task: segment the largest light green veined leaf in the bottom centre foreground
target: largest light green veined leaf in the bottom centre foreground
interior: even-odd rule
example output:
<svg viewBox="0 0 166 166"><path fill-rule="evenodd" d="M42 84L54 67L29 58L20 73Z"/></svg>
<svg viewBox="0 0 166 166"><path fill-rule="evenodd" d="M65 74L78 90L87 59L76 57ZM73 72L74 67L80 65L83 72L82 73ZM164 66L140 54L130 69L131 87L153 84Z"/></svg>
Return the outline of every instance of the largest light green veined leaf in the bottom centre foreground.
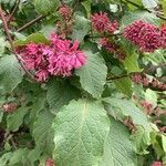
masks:
<svg viewBox="0 0 166 166"><path fill-rule="evenodd" d="M101 103L72 101L59 112L53 127L53 157L59 166L98 165L110 127L108 117Z"/></svg>

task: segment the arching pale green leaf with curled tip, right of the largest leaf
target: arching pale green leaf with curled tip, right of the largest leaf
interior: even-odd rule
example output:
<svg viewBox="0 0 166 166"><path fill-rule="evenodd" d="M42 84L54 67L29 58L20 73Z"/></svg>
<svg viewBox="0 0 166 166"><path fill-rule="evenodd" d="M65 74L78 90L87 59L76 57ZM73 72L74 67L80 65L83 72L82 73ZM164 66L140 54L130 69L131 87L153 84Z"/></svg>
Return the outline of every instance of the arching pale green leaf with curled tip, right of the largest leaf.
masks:
<svg viewBox="0 0 166 166"><path fill-rule="evenodd" d="M145 154L147 146L151 144L151 132L153 131L146 115L132 102L124 98L104 98L107 104L105 108L108 114L124 122L125 117L131 117L136 132L133 135L133 142L136 145L137 153ZM139 139L136 138L141 138Z"/></svg>

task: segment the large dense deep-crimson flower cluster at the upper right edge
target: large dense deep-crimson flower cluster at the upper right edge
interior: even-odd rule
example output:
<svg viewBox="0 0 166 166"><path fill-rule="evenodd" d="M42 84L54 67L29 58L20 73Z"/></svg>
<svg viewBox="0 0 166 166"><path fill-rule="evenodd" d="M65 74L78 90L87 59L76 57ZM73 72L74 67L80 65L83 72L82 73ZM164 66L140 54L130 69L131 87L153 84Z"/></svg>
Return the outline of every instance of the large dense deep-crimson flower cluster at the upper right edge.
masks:
<svg viewBox="0 0 166 166"><path fill-rule="evenodd" d="M139 48L142 52L154 52L166 48L166 29L135 21L124 29L124 37Z"/></svg>

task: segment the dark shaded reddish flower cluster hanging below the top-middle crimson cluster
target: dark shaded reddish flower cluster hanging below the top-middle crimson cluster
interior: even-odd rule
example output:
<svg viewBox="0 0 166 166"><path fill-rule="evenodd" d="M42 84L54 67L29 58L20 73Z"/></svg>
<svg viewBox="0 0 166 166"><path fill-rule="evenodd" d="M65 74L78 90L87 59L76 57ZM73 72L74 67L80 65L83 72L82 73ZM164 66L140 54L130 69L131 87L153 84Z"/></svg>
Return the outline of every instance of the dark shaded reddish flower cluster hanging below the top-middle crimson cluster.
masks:
<svg viewBox="0 0 166 166"><path fill-rule="evenodd" d="M115 58L118 59L120 61L125 60L126 54L124 53L122 48L116 43L112 42L107 38L102 38L100 40L100 43L107 50L108 53L113 53Z"/></svg>

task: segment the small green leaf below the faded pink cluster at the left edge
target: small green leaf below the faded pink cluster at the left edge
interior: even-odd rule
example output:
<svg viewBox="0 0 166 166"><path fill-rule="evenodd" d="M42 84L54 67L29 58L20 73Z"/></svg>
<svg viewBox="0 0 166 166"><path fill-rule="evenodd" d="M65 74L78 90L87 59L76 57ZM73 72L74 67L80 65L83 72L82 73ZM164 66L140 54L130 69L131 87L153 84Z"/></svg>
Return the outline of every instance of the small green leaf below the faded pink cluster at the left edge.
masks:
<svg viewBox="0 0 166 166"><path fill-rule="evenodd" d="M25 114L28 113L28 107L20 107L11 115L8 115L7 117L7 128L12 132L17 132L19 127L23 123L23 118Z"/></svg>

